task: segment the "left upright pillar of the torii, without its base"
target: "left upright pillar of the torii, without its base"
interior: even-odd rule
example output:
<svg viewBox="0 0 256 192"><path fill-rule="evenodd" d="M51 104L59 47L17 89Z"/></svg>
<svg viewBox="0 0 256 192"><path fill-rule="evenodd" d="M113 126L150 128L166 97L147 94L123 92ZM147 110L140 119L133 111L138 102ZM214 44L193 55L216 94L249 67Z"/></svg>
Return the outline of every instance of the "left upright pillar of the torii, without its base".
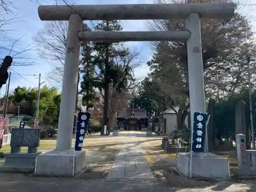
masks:
<svg viewBox="0 0 256 192"><path fill-rule="evenodd" d="M82 19L77 14L71 15L69 18L56 150L71 149L80 53L80 40L77 34L81 30Z"/></svg>

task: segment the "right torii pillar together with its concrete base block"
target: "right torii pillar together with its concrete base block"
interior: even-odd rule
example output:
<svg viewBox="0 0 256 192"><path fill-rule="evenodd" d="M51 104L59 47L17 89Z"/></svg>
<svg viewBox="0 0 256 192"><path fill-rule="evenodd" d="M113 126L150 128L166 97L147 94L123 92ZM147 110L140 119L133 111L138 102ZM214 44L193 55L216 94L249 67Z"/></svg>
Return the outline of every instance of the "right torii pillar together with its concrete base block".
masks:
<svg viewBox="0 0 256 192"><path fill-rule="evenodd" d="M201 45L200 17L190 13L186 18L186 29L190 32L187 40L188 81L191 132L194 130L194 112L205 113L204 72ZM207 133L205 138L207 138ZM192 145L192 143L190 143ZM229 160L216 154L208 153L205 141L205 153L180 153L177 168L188 177L228 179Z"/></svg>

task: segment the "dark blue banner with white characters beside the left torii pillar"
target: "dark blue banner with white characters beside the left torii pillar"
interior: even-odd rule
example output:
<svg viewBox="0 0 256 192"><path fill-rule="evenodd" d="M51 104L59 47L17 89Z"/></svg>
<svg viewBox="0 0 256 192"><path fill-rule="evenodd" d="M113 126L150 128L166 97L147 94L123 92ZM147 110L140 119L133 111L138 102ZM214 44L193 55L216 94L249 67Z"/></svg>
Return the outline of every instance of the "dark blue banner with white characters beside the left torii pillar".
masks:
<svg viewBox="0 0 256 192"><path fill-rule="evenodd" d="M82 150L82 143L84 139L84 135L87 132L87 127L90 119L90 113L79 112L76 122L76 143L75 143L75 151Z"/></svg>

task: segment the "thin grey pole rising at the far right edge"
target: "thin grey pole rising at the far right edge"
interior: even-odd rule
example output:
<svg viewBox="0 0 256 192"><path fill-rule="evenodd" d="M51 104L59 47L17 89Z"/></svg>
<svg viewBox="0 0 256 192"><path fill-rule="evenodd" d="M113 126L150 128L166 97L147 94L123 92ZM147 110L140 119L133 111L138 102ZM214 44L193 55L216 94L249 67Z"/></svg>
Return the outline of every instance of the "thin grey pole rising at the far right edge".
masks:
<svg viewBox="0 0 256 192"><path fill-rule="evenodd" d="M252 115L252 102L251 102L251 74L250 74L250 56L247 55L247 70L248 70L248 91L249 91L249 104L250 104L250 120L251 120L251 142L252 150L255 150L255 136L253 127L253 115Z"/></svg>

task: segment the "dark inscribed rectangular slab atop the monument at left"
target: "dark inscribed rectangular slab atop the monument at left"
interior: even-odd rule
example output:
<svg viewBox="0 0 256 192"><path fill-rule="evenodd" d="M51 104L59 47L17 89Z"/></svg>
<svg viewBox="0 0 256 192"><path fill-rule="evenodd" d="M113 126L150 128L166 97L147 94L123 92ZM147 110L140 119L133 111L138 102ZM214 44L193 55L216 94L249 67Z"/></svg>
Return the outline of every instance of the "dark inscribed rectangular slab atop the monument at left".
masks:
<svg viewBox="0 0 256 192"><path fill-rule="evenodd" d="M10 146L39 146L40 129L12 129Z"/></svg>

